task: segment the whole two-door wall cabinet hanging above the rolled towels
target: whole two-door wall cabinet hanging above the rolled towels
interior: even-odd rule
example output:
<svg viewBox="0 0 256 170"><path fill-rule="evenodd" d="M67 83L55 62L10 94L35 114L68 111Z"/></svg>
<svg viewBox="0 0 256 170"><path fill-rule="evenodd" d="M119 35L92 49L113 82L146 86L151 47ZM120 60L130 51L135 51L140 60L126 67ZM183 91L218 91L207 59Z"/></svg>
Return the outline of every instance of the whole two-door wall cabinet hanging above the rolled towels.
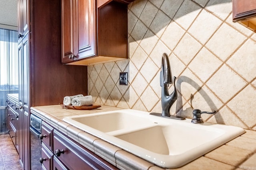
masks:
<svg viewBox="0 0 256 170"><path fill-rule="evenodd" d="M128 2L61 2L62 63L91 65L128 58Z"/></svg>

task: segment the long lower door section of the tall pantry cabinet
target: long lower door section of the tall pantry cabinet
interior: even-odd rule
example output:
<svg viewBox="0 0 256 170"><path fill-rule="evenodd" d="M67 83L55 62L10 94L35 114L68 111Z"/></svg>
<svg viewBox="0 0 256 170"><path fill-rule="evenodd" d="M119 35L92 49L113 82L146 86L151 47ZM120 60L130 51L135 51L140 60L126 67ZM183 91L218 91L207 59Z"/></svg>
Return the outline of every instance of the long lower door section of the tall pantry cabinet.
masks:
<svg viewBox="0 0 256 170"><path fill-rule="evenodd" d="M18 45L19 58L19 155L26 170L29 165L29 34Z"/></svg>

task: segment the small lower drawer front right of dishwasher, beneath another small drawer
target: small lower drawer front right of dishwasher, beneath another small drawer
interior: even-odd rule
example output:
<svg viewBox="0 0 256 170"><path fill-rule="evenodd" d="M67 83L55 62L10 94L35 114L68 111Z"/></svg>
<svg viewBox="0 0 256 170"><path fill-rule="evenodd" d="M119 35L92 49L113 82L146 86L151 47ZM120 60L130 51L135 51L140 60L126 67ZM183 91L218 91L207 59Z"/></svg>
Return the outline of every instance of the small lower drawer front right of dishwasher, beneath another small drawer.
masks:
<svg viewBox="0 0 256 170"><path fill-rule="evenodd" d="M52 158L53 158L53 153L51 150L48 149L44 143L42 143L42 157L41 160L43 160L42 165L46 170L51 170L52 169Z"/></svg>

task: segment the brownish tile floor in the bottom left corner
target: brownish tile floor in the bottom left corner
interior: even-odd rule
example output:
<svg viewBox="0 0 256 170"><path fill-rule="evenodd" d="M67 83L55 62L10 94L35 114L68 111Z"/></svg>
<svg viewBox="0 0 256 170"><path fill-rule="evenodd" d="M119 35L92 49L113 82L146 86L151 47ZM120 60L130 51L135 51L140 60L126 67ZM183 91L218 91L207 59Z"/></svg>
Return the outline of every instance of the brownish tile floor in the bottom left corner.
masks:
<svg viewBox="0 0 256 170"><path fill-rule="evenodd" d="M22 170L9 134L0 135L0 170Z"/></svg>

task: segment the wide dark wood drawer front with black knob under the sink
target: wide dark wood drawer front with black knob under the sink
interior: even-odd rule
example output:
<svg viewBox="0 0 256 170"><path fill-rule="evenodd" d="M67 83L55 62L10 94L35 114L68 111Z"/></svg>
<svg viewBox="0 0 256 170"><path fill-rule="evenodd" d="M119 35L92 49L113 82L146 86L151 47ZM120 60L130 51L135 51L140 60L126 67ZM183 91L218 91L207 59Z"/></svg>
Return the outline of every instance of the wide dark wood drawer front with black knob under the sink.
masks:
<svg viewBox="0 0 256 170"><path fill-rule="evenodd" d="M70 170L115 169L114 166L90 150L54 129L54 154Z"/></svg>

